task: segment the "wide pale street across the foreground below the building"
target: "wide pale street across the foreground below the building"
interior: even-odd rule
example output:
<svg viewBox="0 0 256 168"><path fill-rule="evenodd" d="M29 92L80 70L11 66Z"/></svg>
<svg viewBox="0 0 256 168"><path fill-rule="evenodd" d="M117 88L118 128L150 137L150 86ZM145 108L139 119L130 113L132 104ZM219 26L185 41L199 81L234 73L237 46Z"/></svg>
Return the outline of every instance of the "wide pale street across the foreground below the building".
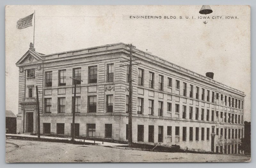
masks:
<svg viewBox="0 0 256 168"><path fill-rule="evenodd" d="M246 162L248 155L166 153L6 139L6 162Z"/></svg>

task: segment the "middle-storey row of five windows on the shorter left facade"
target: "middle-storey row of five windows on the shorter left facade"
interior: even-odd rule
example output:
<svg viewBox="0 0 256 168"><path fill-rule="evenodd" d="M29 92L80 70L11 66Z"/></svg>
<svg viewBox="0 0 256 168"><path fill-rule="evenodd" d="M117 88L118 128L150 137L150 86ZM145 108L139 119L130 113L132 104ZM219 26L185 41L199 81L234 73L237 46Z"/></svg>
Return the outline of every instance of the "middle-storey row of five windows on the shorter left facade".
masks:
<svg viewBox="0 0 256 168"><path fill-rule="evenodd" d="M97 96L88 96L88 113L96 113L97 109ZM107 95L106 109L107 113L113 112L113 95ZM72 113L73 113L74 97L72 97ZM44 112L52 113L52 98L44 98ZM66 98L58 98L58 113L66 112ZM75 113L81 112L81 97L76 96Z"/></svg>

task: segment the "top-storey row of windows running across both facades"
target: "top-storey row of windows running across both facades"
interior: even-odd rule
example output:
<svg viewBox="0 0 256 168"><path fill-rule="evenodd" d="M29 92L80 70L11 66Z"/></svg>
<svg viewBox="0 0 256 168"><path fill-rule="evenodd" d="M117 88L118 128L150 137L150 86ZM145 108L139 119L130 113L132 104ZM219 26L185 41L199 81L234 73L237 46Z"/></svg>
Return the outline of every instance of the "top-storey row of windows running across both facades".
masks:
<svg viewBox="0 0 256 168"><path fill-rule="evenodd" d="M127 68L128 69L128 68ZM34 76L34 69L27 70L28 77ZM81 84L81 68L73 68L73 78L77 79L74 80L72 84ZM113 82L114 80L114 64L107 64L107 82ZM59 86L66 85L66 69L59 70L59 77L58 77ZM138 85L144 85L144 70L138 69ZM127 71L127 82L128 82L128 71ZM90 66L88 67L88 83L97 83L97 66ZM163 90L164 84L164 76L159 75L158 81L158 90ZM52 86L52 71L45 72L45 87ZM172 87L172 78L168 77L168 86ZM149 88L154 88L154 73L149 72ZM193 91L194 86L192 84L189 85L189 97L193 98ZM180 81L176 80L176 89L180 89ZM201 100L205 98L205 89L202 89ZM187 83L183 82L183 96L187 96ZM199 99L199 87L196 86L196 99ZM212 91L212 100L211 102L214 103L215 99L215 92ZM216 93L216 99L219 100L219 93ZM223 101L223 94L220 94L220 100ZM210 102L210 90L207 90L206 101ZM225 106L227 106L227 96L225 95L224 98ZM228 106L238 109L243 109L243 100L238 100L232 98L231 104L231 97L228 97Z"/></svg>

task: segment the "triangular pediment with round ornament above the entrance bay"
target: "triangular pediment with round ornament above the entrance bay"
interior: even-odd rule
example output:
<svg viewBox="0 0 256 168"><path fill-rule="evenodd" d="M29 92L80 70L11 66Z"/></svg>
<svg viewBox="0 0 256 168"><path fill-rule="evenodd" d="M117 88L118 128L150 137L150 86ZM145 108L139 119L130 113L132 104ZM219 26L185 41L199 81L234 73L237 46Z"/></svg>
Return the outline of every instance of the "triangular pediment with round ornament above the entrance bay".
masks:
<svg viewBox="0 0 256 168"><path fill-rule="evenodd" d="M21 59L16 63L16 65L20 64L34 64L36 62L42 62L42 58L35 52L28 50Z"/></svg>

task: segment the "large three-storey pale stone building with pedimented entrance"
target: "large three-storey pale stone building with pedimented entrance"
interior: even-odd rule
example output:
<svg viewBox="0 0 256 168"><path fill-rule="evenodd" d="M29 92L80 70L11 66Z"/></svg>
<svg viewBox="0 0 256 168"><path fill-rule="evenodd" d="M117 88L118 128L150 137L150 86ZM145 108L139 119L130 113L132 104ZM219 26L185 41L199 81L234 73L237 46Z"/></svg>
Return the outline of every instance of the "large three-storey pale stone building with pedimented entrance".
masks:
<svg viewBox="0 0 256 168"><path fill-rule="evenodd" d="M129 46L124 43L44 55L31 45L19 67L17 132L36 132L36 86L44 134L71 135L74 81L76 136L127 141ZM133 49L133 142L238 153L244 92Z"/></svg>

